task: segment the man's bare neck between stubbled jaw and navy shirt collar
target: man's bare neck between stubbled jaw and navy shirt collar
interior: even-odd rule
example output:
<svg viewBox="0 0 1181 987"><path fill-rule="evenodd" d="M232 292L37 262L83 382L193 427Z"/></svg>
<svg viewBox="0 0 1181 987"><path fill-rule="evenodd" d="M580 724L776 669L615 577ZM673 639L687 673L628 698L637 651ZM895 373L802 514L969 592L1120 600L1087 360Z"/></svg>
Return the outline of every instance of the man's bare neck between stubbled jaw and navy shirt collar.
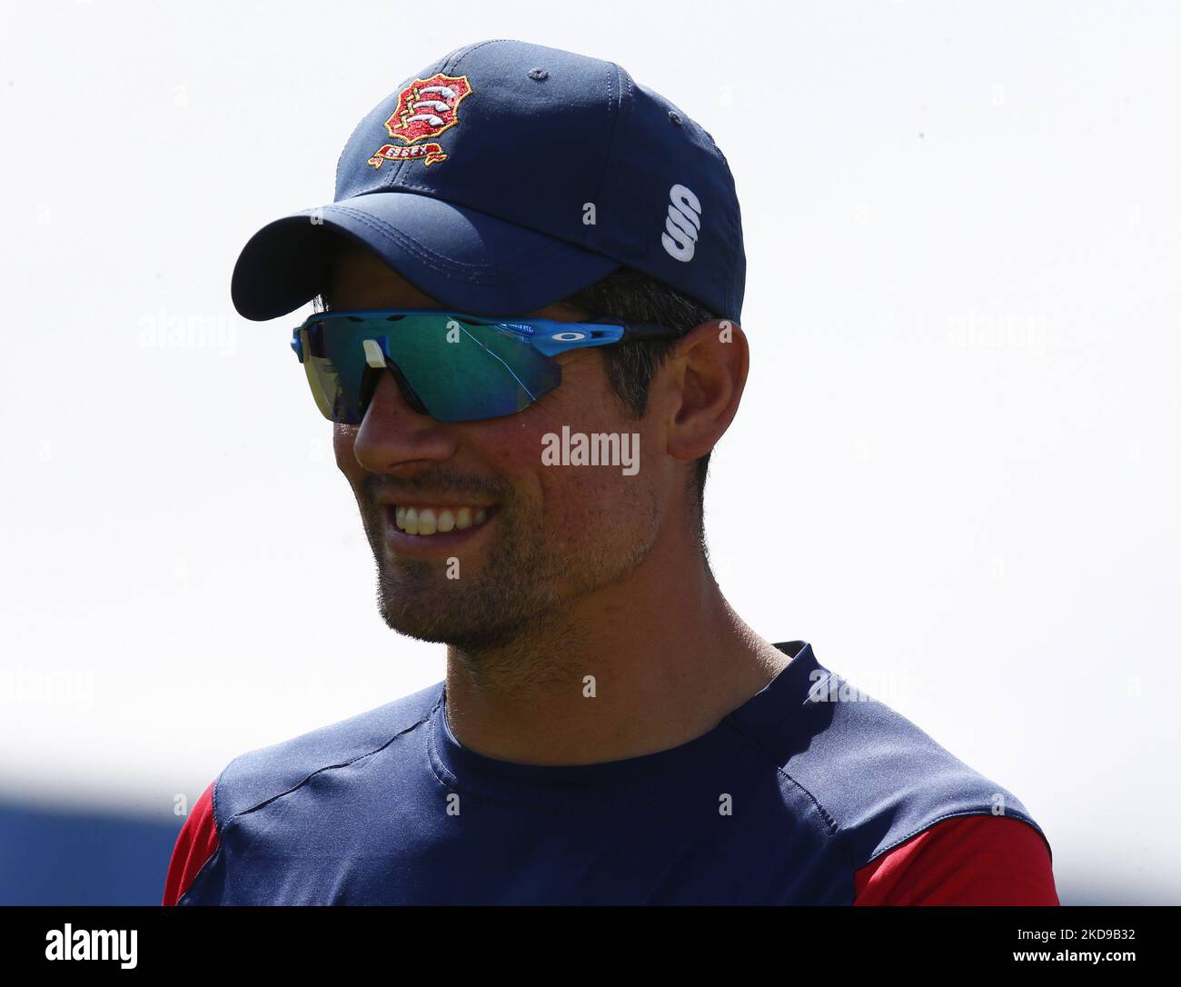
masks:
<svg viewBox="0 0 1181 987"><path fill-rule="evenodd" d="M629 577L539 619L511 644L448 649L456 739L520 764L613 761L686 744L789 658L730 608L699 556Z"/></svg>

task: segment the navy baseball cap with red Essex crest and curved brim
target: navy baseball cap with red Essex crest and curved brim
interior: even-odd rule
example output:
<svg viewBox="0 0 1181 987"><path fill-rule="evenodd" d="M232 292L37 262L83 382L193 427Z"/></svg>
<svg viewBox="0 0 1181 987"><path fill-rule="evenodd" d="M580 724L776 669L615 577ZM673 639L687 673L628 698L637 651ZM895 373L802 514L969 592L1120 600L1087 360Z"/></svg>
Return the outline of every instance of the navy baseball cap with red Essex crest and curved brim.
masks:
<svg viewBox="0 0 1181 987"><path fill-rule="evenodd" d="M470 314L542 309L620 266L742 314L742 215L713 138L621 66L560 48L481 41L405 79L353 130L332 203L247 242L239 313L326 288L326 229Z"/></svg>

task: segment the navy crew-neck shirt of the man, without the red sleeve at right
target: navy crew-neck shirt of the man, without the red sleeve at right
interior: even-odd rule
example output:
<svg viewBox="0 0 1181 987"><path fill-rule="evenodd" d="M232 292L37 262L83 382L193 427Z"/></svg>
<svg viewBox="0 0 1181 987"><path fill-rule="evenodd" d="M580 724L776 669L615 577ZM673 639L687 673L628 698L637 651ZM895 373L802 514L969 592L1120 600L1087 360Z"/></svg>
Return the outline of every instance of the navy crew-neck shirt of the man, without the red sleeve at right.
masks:
<svg viewBox="0 0 1181 987"><path fill-rule="evenodd" d="M242 754L187 823L165 902L850 904L887 855L965 817L1005 817L1049 875L1011 792L807 642L776 647L792 660L758 694L638 758L484 757L452 735L443 682Z"/></svg>

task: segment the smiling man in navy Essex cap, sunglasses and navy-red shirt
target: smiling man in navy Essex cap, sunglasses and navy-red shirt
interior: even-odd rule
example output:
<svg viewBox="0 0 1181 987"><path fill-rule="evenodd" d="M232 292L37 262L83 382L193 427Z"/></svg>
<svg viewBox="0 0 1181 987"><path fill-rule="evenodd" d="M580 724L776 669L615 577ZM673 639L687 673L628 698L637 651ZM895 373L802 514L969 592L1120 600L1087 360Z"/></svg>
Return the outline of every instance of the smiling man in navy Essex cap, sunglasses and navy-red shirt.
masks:
<svg viewBox="0 0 1181 987"><path fill-rule="evenodd" d="M235 305L318 300L292 345L383 617L446 677L235 758L165 903L1057 904L1011 793L715 582L744 280L709 134L520 41L407 79L333 204L252 238Z"/></svg>

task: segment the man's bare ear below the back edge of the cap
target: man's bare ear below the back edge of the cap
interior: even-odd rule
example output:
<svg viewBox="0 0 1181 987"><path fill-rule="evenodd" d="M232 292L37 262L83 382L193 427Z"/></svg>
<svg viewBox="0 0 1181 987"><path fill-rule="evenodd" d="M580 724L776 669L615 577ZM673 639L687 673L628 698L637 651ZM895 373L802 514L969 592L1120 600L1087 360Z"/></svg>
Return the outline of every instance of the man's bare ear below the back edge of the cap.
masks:
<svg viewBox="0 0 1181 987"><path fill-rule="evenodd" d="M750 349L730 319L702 323L677 344L666 392L668 453L696 460L710 452L738 411Z"/></svg>

